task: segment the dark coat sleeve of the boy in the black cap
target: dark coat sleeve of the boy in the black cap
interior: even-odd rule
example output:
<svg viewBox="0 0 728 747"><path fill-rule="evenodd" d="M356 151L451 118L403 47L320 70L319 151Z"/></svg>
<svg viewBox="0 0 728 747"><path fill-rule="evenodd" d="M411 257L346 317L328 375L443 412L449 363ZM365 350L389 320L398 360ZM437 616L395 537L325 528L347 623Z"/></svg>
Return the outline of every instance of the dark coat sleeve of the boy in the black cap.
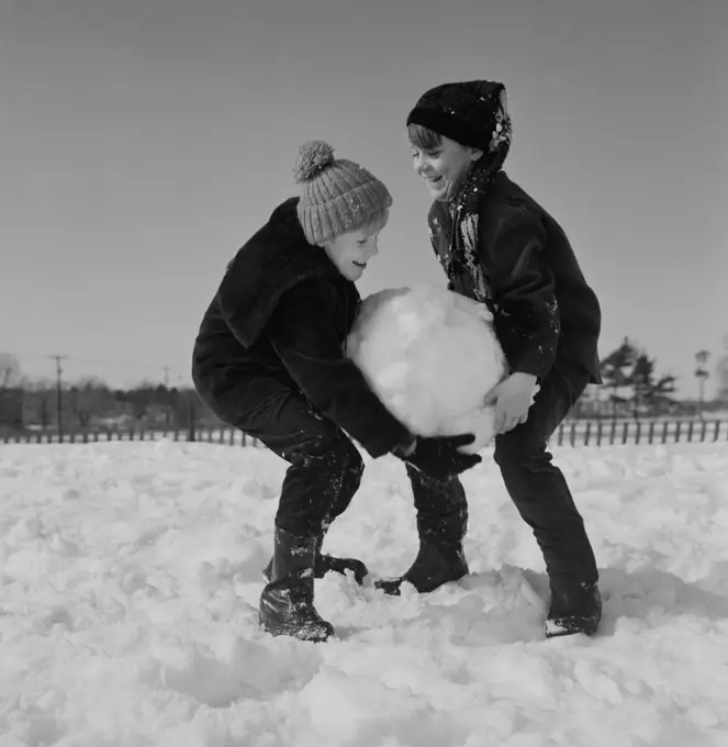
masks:
<svg viewBox="0 0 728 747"><path fill-rule="evenodd" d="M516 352L512 371L544 378L556 359L561 332L553 275L544 261L547 233L540 214L527 207L499 205L499 219L481 234L484 267L499 310L504 348ZM489 225L490 223L490 225Z"/></svg>

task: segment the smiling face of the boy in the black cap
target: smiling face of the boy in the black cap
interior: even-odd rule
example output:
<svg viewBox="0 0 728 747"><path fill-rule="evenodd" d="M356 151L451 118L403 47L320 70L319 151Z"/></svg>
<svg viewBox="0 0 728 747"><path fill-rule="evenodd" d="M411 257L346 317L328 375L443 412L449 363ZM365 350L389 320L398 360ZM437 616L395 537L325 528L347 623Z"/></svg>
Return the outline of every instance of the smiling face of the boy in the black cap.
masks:
<svg viewBox="0 0 728 747"><path fill-rule="evenodd" d="M438 144L427 148L412 145L415 172L425 180L433 199L440 202L452 200L470 167L482 155L482 150L460 145L444 135Z"/></svg>

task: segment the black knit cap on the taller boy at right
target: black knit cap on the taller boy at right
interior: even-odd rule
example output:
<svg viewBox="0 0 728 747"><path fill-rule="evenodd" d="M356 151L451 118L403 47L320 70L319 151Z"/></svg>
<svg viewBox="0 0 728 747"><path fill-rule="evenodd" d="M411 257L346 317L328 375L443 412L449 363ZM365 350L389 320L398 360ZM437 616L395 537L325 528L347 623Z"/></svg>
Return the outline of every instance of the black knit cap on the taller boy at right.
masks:
<svg viewBox="0 0 728 747"><path fill-rule="evenodd" d="M419 124L484 153L494 153L503 143L507 148L511 118L505 86L493 80L467 80L430 88L410 112L407 124Z"/></svg>

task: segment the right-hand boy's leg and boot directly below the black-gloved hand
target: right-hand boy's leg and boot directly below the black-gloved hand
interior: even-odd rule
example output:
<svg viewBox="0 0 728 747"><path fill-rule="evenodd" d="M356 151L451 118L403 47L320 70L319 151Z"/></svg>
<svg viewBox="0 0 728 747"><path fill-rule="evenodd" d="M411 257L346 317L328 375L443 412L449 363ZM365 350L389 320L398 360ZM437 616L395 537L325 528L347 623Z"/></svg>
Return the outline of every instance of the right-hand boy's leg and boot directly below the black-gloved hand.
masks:
<svg viewBox="0 0 728 747"><path fill-rule="evenodd" d="M462 539L468 529L468 502L460 480L435 480L407 465L417 510L419 550L402 576L377 581L388 594L399 594L404 581L428 592L468 572Z"/></svg>

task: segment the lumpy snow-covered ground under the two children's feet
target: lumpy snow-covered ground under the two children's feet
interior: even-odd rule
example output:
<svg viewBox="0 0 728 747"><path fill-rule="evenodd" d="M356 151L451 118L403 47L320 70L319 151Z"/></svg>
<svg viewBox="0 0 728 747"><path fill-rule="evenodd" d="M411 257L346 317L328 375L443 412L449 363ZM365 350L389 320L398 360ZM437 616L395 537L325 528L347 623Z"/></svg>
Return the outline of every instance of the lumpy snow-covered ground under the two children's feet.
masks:
<svg viewBox="0 0 728 747"><path fill-rule="evenodd" d="M540 554L486 458L464 479L472 575L399 599L317 581L340 639L316 646L256 625L276 457L0 447L0 747L725 747L728 444L557 456L598 636L544 639ZM328 550L390 575L415 547L402 466L369 464Z"/></svg>

